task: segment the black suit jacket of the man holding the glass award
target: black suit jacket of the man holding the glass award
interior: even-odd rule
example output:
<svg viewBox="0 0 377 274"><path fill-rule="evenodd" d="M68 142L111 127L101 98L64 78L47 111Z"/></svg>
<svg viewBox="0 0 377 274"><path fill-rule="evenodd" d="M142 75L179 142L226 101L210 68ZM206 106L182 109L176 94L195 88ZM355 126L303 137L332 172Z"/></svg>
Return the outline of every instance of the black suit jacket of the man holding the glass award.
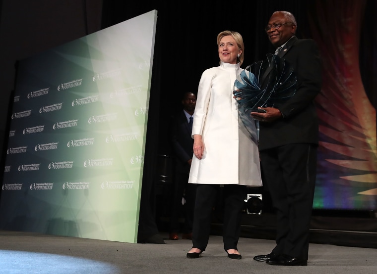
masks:
<svg viewBox="0 0 377 274"><path fill-rule="evenodd" d="M322 85L321 61L312 39L293 37L280 50L297 74L297 91L279 107L283 118L260 122L259 150L292 143L318 144L318 117L314 98Z"/></svg>

